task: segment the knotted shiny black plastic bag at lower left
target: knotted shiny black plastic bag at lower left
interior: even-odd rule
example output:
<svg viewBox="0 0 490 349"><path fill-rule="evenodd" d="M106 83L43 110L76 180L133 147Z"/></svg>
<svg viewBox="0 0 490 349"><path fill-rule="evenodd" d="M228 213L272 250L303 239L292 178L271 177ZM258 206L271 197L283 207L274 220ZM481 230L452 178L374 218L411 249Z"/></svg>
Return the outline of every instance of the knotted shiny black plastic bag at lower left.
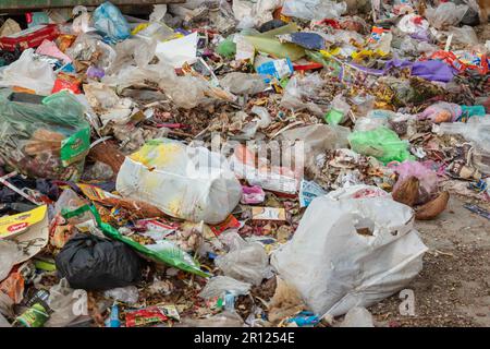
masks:
<svg viewBox="0 0 490 349"><path fill-rule="evenodd" d="M60 251L56 264L72 288L108 290L137 282L143 260L123 242L77 233Z"/></svg>

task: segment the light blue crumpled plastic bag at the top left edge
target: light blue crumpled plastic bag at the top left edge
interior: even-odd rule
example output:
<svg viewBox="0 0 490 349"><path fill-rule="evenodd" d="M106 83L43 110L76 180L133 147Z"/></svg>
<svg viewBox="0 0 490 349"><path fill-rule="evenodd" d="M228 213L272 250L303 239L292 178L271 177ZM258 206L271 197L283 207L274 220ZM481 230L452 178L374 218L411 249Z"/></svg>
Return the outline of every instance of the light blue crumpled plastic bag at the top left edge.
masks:
<svg viewBox="0 0 490 349"><path fill-rule="evenodd" d="M94 12L94 24L103 33L103 40L114 44L131 36L131 27L121 11L109 1L102 3Z"/></svg>

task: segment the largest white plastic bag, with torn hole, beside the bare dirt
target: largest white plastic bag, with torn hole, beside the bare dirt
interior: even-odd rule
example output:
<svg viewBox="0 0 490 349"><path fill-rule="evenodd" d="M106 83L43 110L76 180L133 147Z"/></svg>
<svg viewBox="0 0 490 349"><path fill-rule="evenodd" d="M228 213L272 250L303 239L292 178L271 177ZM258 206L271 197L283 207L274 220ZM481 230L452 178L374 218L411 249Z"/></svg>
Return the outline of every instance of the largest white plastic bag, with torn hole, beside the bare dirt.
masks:
<svg viewBox="0 0 490 349"><path fill-rule="evenodd" d="M320 196L271 263L316 314L338 316L406 287L426 251L408 206L391 197Z"/></svg>

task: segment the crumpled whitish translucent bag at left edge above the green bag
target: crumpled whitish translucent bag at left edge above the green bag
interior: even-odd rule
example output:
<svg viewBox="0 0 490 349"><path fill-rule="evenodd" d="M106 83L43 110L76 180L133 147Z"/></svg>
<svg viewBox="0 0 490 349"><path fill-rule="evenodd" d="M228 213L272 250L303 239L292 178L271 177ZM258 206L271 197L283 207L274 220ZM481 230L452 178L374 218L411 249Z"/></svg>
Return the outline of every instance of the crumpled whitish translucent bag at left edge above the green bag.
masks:
<svg viewBox="0 0 490 349"><path fill-rule="evenodd" d="M51 94L54 81L54 72L49 63L34 58L34 49L29 48L22 56L7 67L0 76L0 86L24 87L42 96Z"/></svg>

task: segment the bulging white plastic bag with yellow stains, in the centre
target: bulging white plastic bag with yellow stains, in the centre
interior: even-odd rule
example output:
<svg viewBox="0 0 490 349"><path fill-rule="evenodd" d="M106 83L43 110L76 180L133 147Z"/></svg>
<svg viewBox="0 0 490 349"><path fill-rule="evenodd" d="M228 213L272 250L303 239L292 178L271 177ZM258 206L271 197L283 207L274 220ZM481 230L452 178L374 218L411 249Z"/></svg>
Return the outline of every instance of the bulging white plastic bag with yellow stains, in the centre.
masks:
<svg viewBox="0 0 490 349"><path fill-rule="evenodd" d="M208 224L226 219L242 197L224 157L168 139L152 140L127 156L115 188L172 217Z"/></svg>

